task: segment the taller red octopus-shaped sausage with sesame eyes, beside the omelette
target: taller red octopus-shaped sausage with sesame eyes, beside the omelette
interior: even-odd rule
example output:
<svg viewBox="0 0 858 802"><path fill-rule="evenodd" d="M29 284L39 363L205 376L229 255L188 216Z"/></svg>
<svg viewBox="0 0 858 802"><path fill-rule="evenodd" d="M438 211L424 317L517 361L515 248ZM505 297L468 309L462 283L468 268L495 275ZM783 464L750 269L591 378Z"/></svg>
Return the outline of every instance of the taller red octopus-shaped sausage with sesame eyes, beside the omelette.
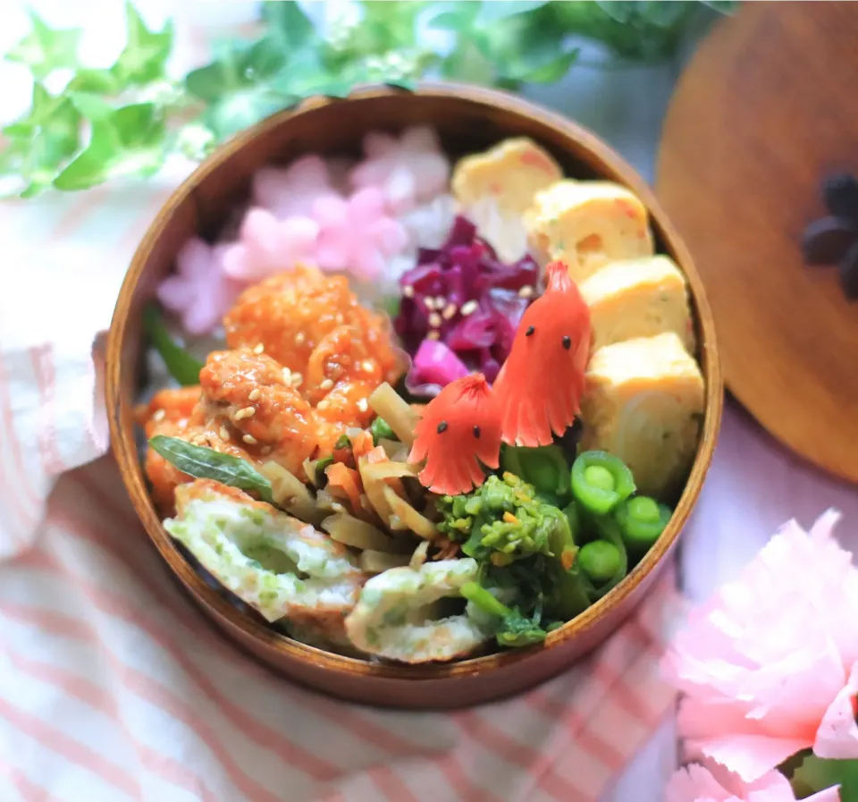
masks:
<svg viewBox="0 0 858 802"><path fill-rule="evenodd" d="M592 339L590 309L563 262L552 262L546 274L548 286L521 318L493 387L501 438L509 445L548 445L580 412Z"/></svg>

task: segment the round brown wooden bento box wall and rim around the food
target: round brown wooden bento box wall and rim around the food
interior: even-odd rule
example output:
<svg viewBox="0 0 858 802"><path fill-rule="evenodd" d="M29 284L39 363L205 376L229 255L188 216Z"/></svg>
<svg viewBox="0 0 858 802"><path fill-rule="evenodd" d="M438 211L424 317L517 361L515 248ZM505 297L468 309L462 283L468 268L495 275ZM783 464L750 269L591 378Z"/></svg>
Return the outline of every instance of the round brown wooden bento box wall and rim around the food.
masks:
<svg viewBox="0 0 858 802"><path fill-rule="evenodd" d="M149 499L132 408L139 390L142 308L152 298L157 281L172 269L181 244L198 231L216 232L231 205L246 197L253 171L309 150L357 152L367 131L397 131L417 122L433 125L453 154L484 149L509 136L530 136L548 148L569 175L602 176L635 191L652 213L660 249L674 257L688 276L707 405L702 443L674 517L658 544L617 588L552 632L543 646L460 663L404 667L375 665L300 644L239 612L206 585L164 532ZM290 679L332 696L372 705L435 709L480 704L547 680L625 620L665 564L697 500L718 435L723 397L714 326L702 283L644 181L600 140L559 115L502 93L454 85L425 86L414 95L362 89L346 100L307 102L232 139L201 165L157 216L130 266L108 337L106 388L112 447L131 501L175 576L224 632Z"/></svg>

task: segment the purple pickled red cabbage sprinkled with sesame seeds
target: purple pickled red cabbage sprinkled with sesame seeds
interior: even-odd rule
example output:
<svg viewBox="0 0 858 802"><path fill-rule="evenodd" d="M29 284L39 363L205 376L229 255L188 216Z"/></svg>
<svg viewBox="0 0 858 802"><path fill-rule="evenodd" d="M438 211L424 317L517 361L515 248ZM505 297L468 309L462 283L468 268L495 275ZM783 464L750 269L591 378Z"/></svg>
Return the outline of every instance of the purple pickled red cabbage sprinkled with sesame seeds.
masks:
<svg viewBox="0 0 858 802"><path fill-rule="evenodd" d="M475 225L458 216L442 247L420 249L416 266L400 278L394 329L414 358L409 392L435 395L472 371L494 381L538 281L532 257L504 264ZM430 332L437 339L427 339ZM429 367L436 364L445 367Z"/></svg>

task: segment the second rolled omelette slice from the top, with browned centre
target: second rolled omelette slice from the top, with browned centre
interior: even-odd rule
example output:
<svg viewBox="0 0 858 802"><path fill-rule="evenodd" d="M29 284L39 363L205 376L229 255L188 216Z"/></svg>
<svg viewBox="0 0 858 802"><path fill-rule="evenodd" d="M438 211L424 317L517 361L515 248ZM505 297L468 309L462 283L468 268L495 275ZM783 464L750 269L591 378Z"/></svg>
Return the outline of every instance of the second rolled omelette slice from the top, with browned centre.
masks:
<svg viewBox="0 0 858 802"><path fill-rule="evenodd" d="M612 182L551 184L536 193L525 227L537 261L547 265L562 259L577 283L609 262L653 253L644 204Z"/></svg>

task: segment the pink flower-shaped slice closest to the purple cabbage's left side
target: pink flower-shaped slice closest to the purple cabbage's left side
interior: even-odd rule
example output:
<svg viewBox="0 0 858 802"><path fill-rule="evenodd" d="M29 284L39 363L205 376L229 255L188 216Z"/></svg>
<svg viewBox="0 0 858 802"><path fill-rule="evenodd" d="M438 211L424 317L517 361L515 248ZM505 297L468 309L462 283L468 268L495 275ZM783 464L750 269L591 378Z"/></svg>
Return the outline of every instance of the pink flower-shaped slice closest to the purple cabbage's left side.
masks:
<svg viewBox="0 0 858 802"><path fill-rule="evenodd" d="M408 244L405 229L385 213L377 187L358 190L347 199L319 198L313 216L320 226L313 260L325 271L345 270L371 280Z"/></svg>

